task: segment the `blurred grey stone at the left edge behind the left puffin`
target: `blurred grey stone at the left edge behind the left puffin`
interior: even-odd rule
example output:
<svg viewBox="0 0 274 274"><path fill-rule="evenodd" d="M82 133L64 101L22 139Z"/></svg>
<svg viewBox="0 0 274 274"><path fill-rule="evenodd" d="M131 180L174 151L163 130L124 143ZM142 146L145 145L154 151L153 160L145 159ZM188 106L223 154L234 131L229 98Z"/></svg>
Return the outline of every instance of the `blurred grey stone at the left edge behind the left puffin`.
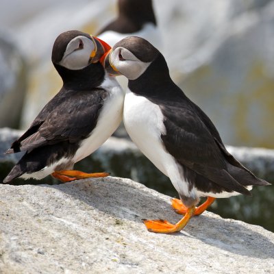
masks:
<svg viewBox="0 0 274 274"><path fill-rule="evenodd" d="M0 127L18 127L26 92L26 65L9 32L0 32Z"/></svg>

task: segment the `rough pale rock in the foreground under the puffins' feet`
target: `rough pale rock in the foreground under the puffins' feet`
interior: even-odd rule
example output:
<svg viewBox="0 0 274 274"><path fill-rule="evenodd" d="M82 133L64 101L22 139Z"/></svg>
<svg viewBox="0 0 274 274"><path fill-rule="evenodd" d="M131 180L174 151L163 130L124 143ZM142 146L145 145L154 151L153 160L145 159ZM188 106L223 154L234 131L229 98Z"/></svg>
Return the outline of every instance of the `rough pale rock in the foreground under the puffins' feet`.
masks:
<svg viewBox="0 0 274 274"><path fill-rule="evenodd" d="M169 199L116 177L0 185L0 272L273 273L274 234L259 226L205 212L147 232L142 218L179 220Z"/></svg>

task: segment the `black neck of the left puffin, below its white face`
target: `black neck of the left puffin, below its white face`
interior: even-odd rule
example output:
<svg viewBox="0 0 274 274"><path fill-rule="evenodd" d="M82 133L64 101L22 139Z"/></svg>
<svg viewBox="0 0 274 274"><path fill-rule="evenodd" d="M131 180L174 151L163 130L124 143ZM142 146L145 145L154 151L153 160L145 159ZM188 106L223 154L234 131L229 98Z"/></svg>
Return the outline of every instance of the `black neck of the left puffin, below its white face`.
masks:
<svg viewBox="0 0 274 274"><path fill-rule="evenodd" d="M90 90L100 86L105 76L105 70L100 62L92 63L84 69L70 70L54 64L55 69L58 71L63 80L63 86L66 89L73 90Z"/></svg>

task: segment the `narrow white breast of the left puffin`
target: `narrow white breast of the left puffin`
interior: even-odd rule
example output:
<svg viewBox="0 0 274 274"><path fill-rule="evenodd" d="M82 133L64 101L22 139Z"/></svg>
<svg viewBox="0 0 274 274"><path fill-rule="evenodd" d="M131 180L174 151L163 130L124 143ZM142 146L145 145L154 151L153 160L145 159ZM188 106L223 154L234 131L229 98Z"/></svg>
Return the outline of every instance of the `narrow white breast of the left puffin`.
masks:
<svg viewBox="0 0 274 274"><path fill-rule="evenodd" d="M74 162L82 160L98 149L116 130L122 121L124 92L114 77L105 75L105 80L100 88L108 90L108 97L103 103L97 125L88 138L83 140Z"/></svg>

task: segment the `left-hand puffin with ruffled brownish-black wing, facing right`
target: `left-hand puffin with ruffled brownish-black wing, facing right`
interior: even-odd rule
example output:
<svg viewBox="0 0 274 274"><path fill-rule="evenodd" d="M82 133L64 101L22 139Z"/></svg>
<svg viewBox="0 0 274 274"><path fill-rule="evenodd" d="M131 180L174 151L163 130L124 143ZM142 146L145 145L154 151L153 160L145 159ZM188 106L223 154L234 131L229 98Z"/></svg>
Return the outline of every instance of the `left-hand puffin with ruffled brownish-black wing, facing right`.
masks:
<svg viewBox="0 0 274 274"><path fill-rule="evenodd" d="M73 171L75 162L98 149L122 120L123 90L99 62L109 49L103 40L78 30L56 38L51 60L62 88L6 151L25 154L3 183L47 175L62 182L109 175Z"/></svg>

